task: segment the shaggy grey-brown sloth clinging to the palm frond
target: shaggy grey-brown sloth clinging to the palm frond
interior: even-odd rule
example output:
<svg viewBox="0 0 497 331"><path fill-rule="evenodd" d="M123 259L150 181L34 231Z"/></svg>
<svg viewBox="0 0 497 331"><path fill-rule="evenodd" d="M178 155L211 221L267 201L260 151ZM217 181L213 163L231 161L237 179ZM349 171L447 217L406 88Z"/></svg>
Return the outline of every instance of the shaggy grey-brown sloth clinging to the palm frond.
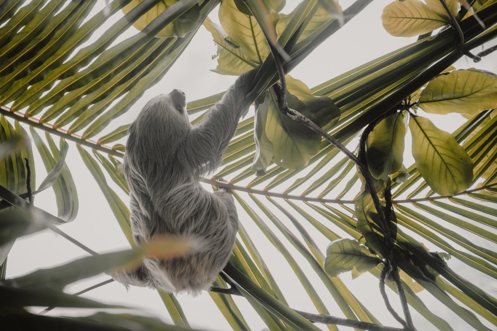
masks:
<svg viewBox="0 0 497 331"><path fill-rule="evenodd" d="M135 243L175 235L199 240L201 249L170 260L144 259L135 270L115 272L115 280L196 295L228 263L238 231L234 199L229 190L207 192L199 181L220 165L255 73L238 77L197 125L190 124L185 94L177 89L152 98L131 124L122 170Z"/></svg>

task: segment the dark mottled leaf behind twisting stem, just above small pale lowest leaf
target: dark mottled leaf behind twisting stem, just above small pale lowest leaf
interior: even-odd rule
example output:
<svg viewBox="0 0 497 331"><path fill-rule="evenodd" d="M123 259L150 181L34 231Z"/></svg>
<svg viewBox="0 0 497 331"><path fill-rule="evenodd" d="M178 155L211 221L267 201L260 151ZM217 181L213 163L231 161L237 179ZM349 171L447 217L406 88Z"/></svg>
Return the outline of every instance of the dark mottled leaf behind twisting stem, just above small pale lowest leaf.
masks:
<svg viewBox="0 0 497 331"><path fill-rule="evenodd" d="M380 201L381 202L381 201ZM385 203L382 202L383 212L385 212ZM366 239L366 246L373 250L377 255L386 257L385 239L380 223L380 217L376 212L373 199L369 193L363 193L355 199L355 218L357 218L357 230L359 230ZM387 220L390 235L392 238L397 236L397 217L395 212L390 210L390 219Z"/></svg>

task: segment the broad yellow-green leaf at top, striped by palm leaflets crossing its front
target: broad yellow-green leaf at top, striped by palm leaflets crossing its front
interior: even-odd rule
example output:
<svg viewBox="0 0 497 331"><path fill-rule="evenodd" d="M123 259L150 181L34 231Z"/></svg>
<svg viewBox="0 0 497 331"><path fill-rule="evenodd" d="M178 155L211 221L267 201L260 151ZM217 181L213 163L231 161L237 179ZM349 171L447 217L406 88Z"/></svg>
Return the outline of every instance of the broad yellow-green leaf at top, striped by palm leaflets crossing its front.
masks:
<svg viewBox="0 0 497 331"><path fill-rule="evenodd" d="M147 25L149 25L154 19L159 17L168 7L178 2L179 0L162 0L147 11L142 17L137 19L133 26L139 31L143 31ZM138 4L143 2L143 0L132 0L126 6L122 8L124 14L127 14L131 9L136 7ZM169 23L164 29L162 29L156 37L184 37L186 33L190 32L195 28L198 18L199 18L199 6L198 3L191 7L189 10L181 14L178 18Z"/></svg>

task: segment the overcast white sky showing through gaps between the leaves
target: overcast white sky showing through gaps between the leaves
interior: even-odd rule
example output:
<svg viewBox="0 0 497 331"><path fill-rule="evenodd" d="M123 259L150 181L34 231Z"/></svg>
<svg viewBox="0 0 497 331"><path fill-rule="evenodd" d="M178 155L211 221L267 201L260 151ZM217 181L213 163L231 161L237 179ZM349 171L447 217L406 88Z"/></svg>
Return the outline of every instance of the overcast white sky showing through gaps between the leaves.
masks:
<svg viewBox="0 0 497 331"><path fill-rule="evenodd" d="M346 7L352 2L353 1L351 0L340 1L342 7ZM346 24L339 32L335 33L331 36L331 38L317 48L307 59L302 62L301 65L296 67L291 72L292 76L302 80L309 87L313 87L342 72L414 42L416 38L393 37L384 31L381 25L380 15L383 7L389 2L391 1L373 1L372 4L357 15L351 22ZM287 0L287 5L282 12L290 12L297 3L298 1L295 0ZM103 5L104 1L99 1L98 5L93 10L93 13L100 10ZM121 17L121 13L110 19L106 25L101 28L101 31L112 24L112 22L115 22L115 20L119 17ZM217 9L211 13L210 18L213 21L218 21ZM136 30L134 28L130 28L130 30L121 36L116 42L119 42L134 33L136 33ZM92 38L92 40L88 41L88 43L94 39L95 38ZM495 43L496 42L490 43L487 46L492 46ZM183 90L186 93L187 100L189 101L226 90L226 88L230 86L236 77L222 76L209 71L217 65L216 60L212 60L211 58L214 54L216 54L216 47L212 41L212 36L205 28L201 27L183 55L169 70L162 81L145 92L143 97L131 108L131 110L114 121L106 132L110 132L120 125L131 123L143 105L150 98L157 94L168 93L173 88ZM456 68L478 67L490 71L497 71L496 60L496 56L491 56L484 58L484 60L479 64L473 64L472 61L461 59L455 64L455 66ZM437 117L432 118L435 119L435 121L437 119ZM436 123L443 130L453 131L454 124L460 122L462 122L462 118L460 116L448 116L444 117L443 121L437 121ZM105 132L102 132L101 135L104 133ZM123 142L124 141L125 139L123 139ZM60 228L96 252L109 252L128 248L129 245L117 222L114 220L114 216L101 194L100 189L94 182L86 167L83 165L81 157L75 148L75 144L72 142L69 143L70 150L67 157L67 163L72 171L73 178L78 188L80 209L78 217L75 221L70 224L63 225ZM410 146L409 141L406 146ZM44 167L42 166L42 162L39 158L35 160L35 163L37 170L36 177L38 178L39 184L44 176ZM409 161L407 161L407 164L409 164ZM119 188L113 185L110 178L108 178L108 182L115 188L116 193L121 197L121 199L123 199L125 203L128 203L127 196ZM338 191L341 191L341 188ZM296 194L299 194L299 192L296 192ZM55 214L57 212L52 192L44 192L36 196L35 204L38 207L42 207ZM299 310L315 313L316 310L312 302L283 257L265 239L263 234L260 233L253 222L243 213L241 207L238 209L242 224L248 230L259 251L263 253L266 264L269 265L270 271L278 281L278 285L281 287L290 306ZM303 224L309 230L311 235L314 236L322 251L325 252L329 242L308 223ZM268 225L274 230L274 233L282 238L282 241L285 243L299 265L301 265L305 271L308 271L307 276L314 284L316 284L318 293L323 294L322 298L331 315L343 316L336 304L333 302L328 290L324 287L324 285L322 285L322 282L311 270L307 262L298 252L296 252L296 250L293 249L290 244L284 240L282 236L279 235L278 230L276 230L272 224ZM288 226L291 229L294 229L291 225ZM342 233L340 231L337 232L339 234ZM295 233L297 232L295 231ZM429 245L427 246L429 247ZM436 250L434 247L430 248ZM7 277L21 275L33 271L36 268L50 267L67 263L86 255L87 254L81 249L67 242L65 239L59 237L53 232L43 231L35 235L20 238L16 241L8 257ZM484 286L484 288L487 286L488 290L492 289L490 283L485 284L487 279L489 282L493 282L490 278L485 278L481 275L474 275L473 273L468 273L467 271L465 273L463 268L466 270L468 270L468 268L454 258L449 262L449 264L451 267L465 274L466 277L474 277L477 285ZM107 278L107 275L99 275L90 279L85 279L68 286L66 291L68 293L74 293ZM370 274L364 274L356 280L351 280L350 273L342 274L340 278L382 323L390 326L398 326L398 323L396 323L386 311L383 301L379 297L377 285L378 280L376 278ZM132 287L130 291L127 292L124 286L114 282L99 289L90 291L84 296L106 303L135 307L140 309L143 314L150 314L161 318L165 322L170 322L166 309L155 290ZM419 293L419 296L424 300L425 304L430 309L441 317L450 320L451 325L455 330L463 331L470 329L470 327L463 320L451 313L438 301L434 300L429 294L426 293L426 291ZM207 293L203 293L196 298L191 298L187 295L180 295L178 296L178 300L181 303L186 317L193 328L203 330L231 330L230 326ZM246 317L252 330L261 330L264 327L264 324L252 311L247 301L244 298L236 298L235 300L237 304L239 304L239 307L244 313L244 316ZM392 300L394 300L394 303L398 302L395 295L392 296ZM38 310L41 309L34 309L34 311ZM88 310L88 315L91 312L92 311ZM418 330L432 330L433 327L429 323L425 322L422 317L419 317L414 309L412 312L414 314L414 322ZM50 314L71 315L74 314L74 310L54 309ZM324 327L323 330L325 330ZM351 329L341 327L340 330Z"/></svg>

